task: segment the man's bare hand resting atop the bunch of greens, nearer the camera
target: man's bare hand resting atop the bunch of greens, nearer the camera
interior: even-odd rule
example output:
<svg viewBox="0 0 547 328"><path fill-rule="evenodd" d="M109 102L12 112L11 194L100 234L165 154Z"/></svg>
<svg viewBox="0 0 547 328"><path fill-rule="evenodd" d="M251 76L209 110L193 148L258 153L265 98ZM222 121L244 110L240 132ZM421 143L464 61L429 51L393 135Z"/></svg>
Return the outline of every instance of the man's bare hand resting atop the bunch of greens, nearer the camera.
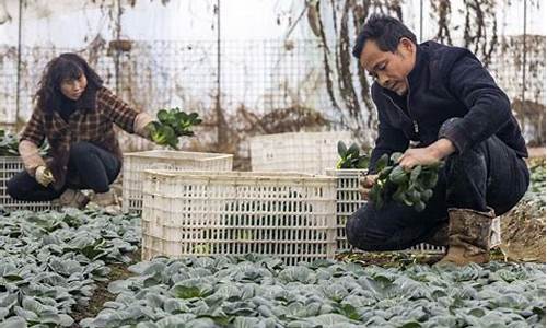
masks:
<svg viewBox="0 0 547 328"><path fill-rule="evenodd" d="M416 165L432 165L452 154L456 149L449 139L439 139L426 148L408 149L399 159L399 165L409 171Z"/></svg>

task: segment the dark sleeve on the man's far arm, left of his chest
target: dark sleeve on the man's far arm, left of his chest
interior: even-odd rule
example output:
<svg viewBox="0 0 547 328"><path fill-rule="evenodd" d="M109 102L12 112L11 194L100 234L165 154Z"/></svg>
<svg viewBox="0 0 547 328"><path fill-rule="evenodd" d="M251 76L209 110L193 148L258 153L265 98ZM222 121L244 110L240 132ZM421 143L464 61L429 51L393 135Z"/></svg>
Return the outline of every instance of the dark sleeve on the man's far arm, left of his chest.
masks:
<svg viewBox="0 0 547 328"><path fill-rule="evenodd" d="M408 148L408 138L403 133L401 130L393 127L385 112L385 105L382 101L379 99L380 95L376 95L376 92L373 87L373 96L372 99L376 105L376 110L379 115L379 132L376 138L376 143L371 153L371 160L369 164L369 174L376 174L376 162L383 154L391 155L394 152L404 152Z"/></svg>

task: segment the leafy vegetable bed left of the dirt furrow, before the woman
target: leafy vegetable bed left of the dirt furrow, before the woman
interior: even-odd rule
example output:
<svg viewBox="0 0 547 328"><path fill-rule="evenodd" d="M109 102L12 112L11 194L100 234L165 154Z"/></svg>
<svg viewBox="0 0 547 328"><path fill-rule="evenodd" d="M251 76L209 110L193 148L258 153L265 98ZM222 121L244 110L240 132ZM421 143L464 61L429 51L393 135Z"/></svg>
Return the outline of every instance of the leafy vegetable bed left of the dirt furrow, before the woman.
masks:
<svg viewBox="0 0 547 328"><path fill-rule="evenodd" d="M109 263L128 263L139 218L98 212L0 215L0 327L70 327Z"/></svg>

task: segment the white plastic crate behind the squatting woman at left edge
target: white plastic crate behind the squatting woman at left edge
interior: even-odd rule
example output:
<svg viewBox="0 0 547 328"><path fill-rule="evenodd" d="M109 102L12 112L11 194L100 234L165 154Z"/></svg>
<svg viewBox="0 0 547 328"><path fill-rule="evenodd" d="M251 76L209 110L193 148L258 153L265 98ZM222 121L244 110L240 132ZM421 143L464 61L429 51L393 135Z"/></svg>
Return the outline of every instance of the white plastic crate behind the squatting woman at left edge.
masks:
<svg viewBox="0 0 547 328"><path fill-rule="evenodd" d="M33 212L54 209L50 201L20 201L8 195L8 181L24 168L21 157L0 156L0 207L10 211L28 210Z"/></svg>

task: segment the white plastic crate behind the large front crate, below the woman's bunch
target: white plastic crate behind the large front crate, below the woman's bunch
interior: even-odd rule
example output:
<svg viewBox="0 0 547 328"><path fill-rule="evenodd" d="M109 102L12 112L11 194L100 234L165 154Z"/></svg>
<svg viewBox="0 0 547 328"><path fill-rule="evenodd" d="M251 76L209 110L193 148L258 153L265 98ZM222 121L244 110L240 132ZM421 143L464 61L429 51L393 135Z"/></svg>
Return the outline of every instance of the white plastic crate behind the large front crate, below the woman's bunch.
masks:
<svg viewBox="0 0 547 328"><path fill-rule="evenodd" d="M140 212L144 169L232 171L233 155L168 150L124 154L123 210Z"/></svg>

